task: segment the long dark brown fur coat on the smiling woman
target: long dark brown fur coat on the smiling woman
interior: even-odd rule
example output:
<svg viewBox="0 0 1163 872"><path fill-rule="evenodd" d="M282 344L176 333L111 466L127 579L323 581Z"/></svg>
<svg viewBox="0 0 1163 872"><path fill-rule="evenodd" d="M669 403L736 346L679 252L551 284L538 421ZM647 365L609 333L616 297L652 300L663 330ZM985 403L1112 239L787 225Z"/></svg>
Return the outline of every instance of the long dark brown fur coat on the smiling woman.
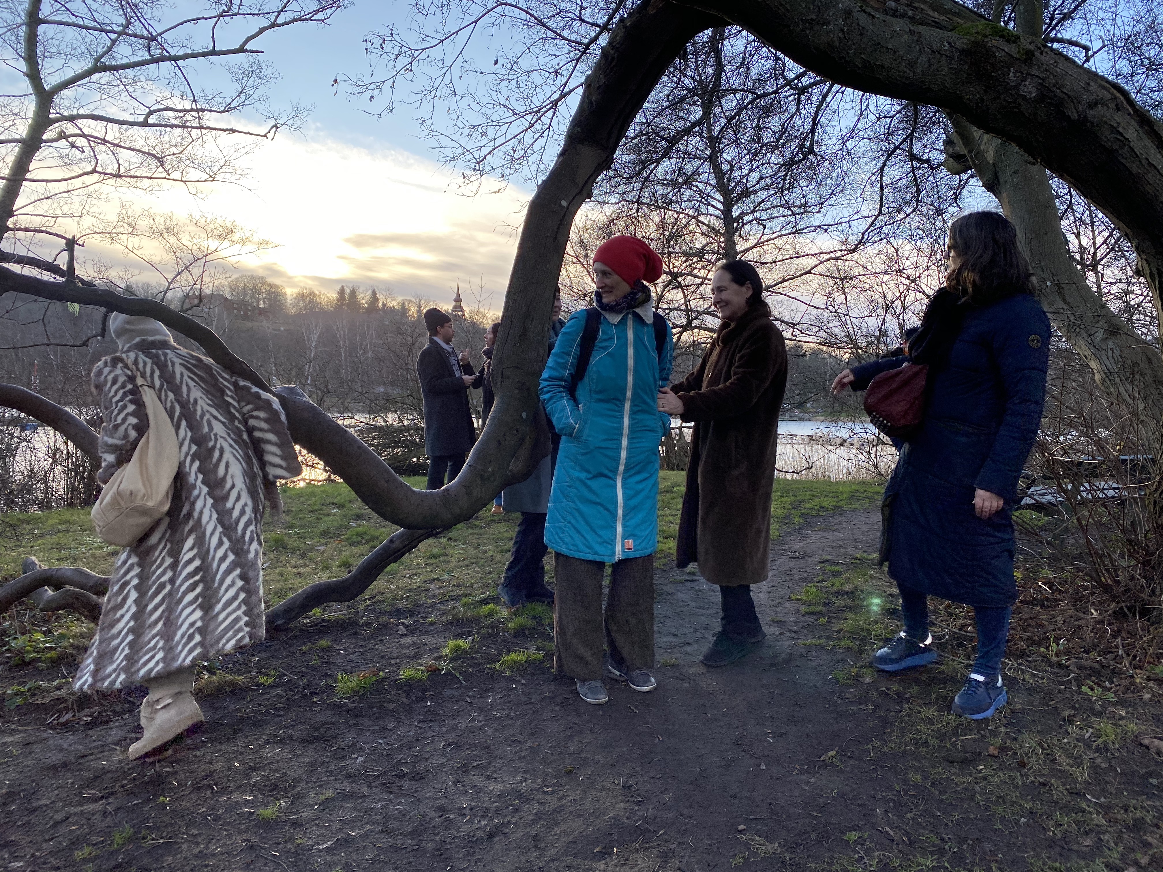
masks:
<svg viewBox="0 0 1163 872"><path fill-rule="evenodd" d="M719 326L694 371L671 386L694 423L676 563L732 587L768 578L784 336L766 306Z"/></svg>

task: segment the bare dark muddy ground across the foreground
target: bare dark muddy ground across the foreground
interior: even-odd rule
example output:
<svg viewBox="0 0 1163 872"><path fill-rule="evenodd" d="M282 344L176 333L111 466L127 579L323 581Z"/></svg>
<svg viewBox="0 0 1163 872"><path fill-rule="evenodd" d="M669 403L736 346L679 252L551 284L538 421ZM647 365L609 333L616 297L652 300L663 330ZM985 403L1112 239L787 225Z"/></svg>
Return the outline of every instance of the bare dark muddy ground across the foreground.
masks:
<svg viewBox="0 0 1163 872"><path fill-rule="evenodd" d="M224 660L257 678L204 695L205 734L162 763L124 759L134 699L64 726L20 706L0 722L0 867L1161 867L1163 760L1132 735L1153 703L1082 696L1063 669L1009 676L992 722L954 719L957 670L872 676L861 645L834 644L842 614L790 599L843 577L878 530L850 510L786 531L756 588L768 644L723 670L699 664L716 591L661 565L658 689L615 686L604 707L548 657L486 666L535 634L374 608ZM475 631L458 674L393 680ZM336 673L372 669L366 693L337 696ZM1126 735L1096 744L1100 720Z"/></svg>

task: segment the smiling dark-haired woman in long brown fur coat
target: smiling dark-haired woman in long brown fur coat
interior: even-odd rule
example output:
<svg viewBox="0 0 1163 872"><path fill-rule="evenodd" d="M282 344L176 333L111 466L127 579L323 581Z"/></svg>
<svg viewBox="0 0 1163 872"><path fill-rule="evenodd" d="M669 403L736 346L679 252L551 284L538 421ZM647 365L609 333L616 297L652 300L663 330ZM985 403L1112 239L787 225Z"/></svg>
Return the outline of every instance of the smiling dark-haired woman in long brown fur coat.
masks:
<svg viewBox="0 0 1163 872"><path fill-rule="evenodd" d="M787 351L755 266L722 264L711 293L719 330L691 374L658 393L658 409L695 426L676 565L697 562L700 574L719 585L720 630L702 663L726 666L766 637L751 585L768 578Z"/></svg>

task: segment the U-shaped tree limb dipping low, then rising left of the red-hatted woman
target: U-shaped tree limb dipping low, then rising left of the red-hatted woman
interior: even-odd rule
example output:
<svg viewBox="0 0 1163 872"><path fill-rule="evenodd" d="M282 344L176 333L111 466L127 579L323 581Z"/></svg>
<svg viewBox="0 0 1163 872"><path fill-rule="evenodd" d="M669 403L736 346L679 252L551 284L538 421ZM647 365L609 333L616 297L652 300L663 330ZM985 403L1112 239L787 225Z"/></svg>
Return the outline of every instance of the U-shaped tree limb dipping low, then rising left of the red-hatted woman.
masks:
<svg viewBox="0 0 1163 872"><path fill-rule="evenodd" d="M335 470L378 515L405 529L451 527L476 514L505 485L526 478L548 452L544 434L530 436L530 430L540 408L537 381L548 351L549 312L573 217L670 63L698 33L722 23L714 15L652 0L611 34L586 79L557 162L529 202L505 294L502 317L512 328L501 334L493 356L497 405L454 483L440 491L413 489L301 391L277 391L295 441ZM271 389L213 330L156 300L0 267L3 291L154 317L198 342L230 372Z"/></svg>

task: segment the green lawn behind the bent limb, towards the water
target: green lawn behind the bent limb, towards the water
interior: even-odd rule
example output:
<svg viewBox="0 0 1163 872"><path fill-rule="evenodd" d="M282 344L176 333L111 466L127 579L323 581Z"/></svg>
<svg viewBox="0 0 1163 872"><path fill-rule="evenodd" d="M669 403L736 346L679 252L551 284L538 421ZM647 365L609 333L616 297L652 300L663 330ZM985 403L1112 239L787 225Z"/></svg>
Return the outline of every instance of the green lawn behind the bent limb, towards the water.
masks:
<svg viewBox="0 0 1163 872"><path fill-rule="evenodd" d="M406 480L413 486L423 486L422 478ZM658 536L662 560L672 558L675 552L684 485L685 473L661 473ZM778 535L806 517L872 505L879 489L879 485L871 481L777 479L772 492L772 534ZM342 574L398 529L374 515L343 484L285 488L283 499L284 524L269 527L264 533L263 586L267 606L277 605L306 584ZM492 515L488 508L443 536L422 543L405 559L388 566L354 608L380 605L408 610L435 605L447 617L471 622L477 631L506 632L528 641L530 648L543 649L542 653L551 651L551 646L542 644L552 627L552 612L548 606L530 603L509 612L494 601L520 515ZM85 566L100 573L112 570L117 549L97 538L86 509L8 514L3 521L6 536L0 545L0 582L19 574L20 564L28 556L36 556L45 566ZM330 608L315 613L316 617L331 614L334 609ZM79 658L92 632L88 621L65 613L44 615L14 609L0 617L0 655L7 657L10 666L69 665ZM321 638L300 650L317 660L330 645L328 639ZM444 658L444 667L449 660L451 657ZM199 692L227 693L272 680L273 676L214 673L201 678ZM423 679L418 673L406 680ZM344 684L348 686L356 684ZM40 689L43 688L14 686L6 693L6 703L9 707L23 705L33 696L31 691Z"/></svg>

